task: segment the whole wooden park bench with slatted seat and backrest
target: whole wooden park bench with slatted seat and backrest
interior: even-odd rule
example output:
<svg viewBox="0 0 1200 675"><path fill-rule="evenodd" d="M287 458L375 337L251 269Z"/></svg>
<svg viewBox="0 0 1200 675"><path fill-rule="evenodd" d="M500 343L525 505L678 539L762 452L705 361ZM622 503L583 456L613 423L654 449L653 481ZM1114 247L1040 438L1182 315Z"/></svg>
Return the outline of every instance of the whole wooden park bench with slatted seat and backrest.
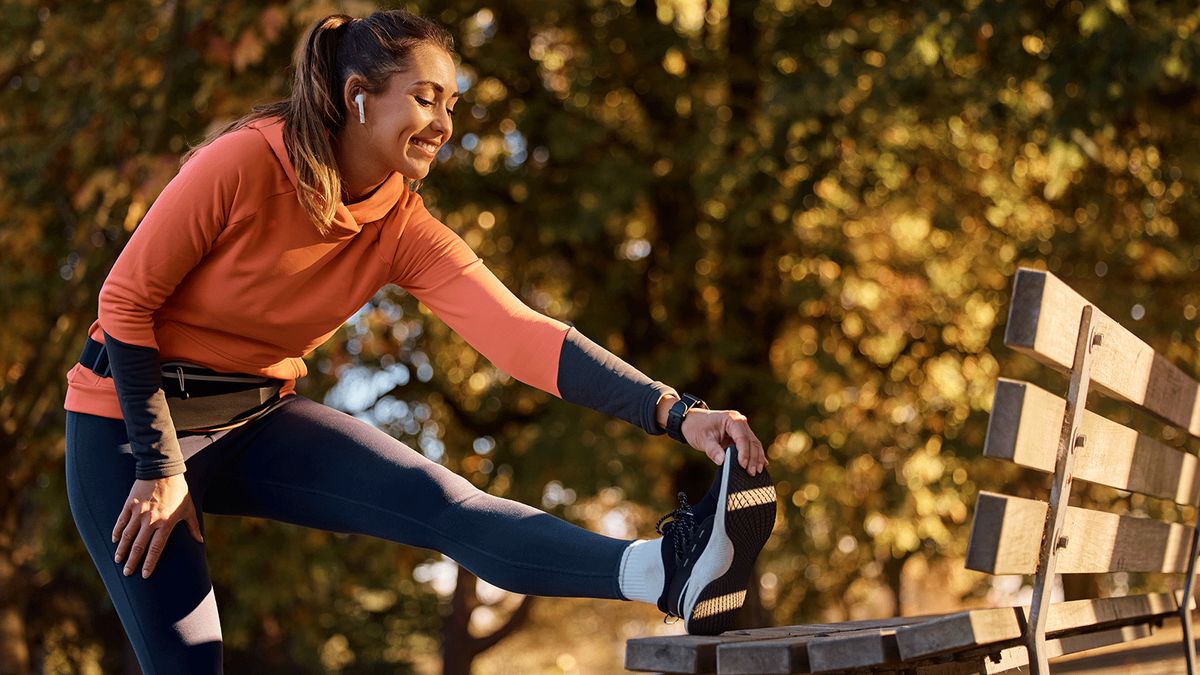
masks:
<svg viewBox="0 0 1200 675"><path fill-rule="evenodd" d="M1049 673L1048 661L1182 622L1192 639L1198 526L1068 506L1074 480L1200 504L1196 458L1085 410L1090 390L1200 436L1200 384L1046 271L1016 274L1004 344L1069 376L1066 398L1000 380L984 455L1054 476L1045 501L980 492L966 567L1032 575L1030 607L630 640L625 667L660 673ZM1127 501L1123 510L1133 510ZM1164 573L1182 592L1051 603L1055 574ZM1188 598L1182 602L1182 598ZM1181 608L1182 605L1182 608Z"/></svg>

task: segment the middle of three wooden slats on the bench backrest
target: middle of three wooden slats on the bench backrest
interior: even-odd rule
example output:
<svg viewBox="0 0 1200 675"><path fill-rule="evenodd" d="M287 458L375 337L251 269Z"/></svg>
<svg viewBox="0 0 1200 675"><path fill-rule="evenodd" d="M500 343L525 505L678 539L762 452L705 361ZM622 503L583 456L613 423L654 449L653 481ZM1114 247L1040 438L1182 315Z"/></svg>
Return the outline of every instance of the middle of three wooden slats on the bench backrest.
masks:
<svg viewBox="0 0 1200 675"><path fill-rule="evenodd" d="M996 382L985 456L1054 473L1058 435L1067 401L1028 382ZM1200 504L1200 461L1128 426L1085 411L1086 443L1075 452L1075 478L1171 500Z"/></svg>

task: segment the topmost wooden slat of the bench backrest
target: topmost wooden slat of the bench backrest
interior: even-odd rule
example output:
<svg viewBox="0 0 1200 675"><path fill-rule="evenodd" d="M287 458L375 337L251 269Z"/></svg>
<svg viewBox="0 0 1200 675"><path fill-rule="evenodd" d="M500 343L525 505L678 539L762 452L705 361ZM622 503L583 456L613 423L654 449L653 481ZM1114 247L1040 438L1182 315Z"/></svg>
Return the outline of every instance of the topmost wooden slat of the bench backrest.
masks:
<svg viewBox="0 0 1200 675"><path fill-rule="evenodd" d="M1087 304L1055 275L1022 268L1013 283L1004 344L1069 370ZM1200 384L1104 312L1097 310L1094 317L1103 341L1092 352L1093 386L1200 436Z"/></svg>

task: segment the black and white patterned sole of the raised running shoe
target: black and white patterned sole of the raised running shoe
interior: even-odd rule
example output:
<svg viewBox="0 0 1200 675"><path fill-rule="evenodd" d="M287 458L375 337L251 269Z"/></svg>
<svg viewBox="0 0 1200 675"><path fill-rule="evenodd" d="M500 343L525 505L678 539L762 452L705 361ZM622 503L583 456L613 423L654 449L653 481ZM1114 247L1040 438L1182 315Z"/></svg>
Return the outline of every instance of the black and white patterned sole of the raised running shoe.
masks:
<svg viewBox="0 0 1200 675"><path fill-rule="evenodd" d="M750 476L738 465L733 449L726 453L722 468L708 550L701 554L691 574L692 579L713 579L700 591L686 619L685 627L692 635L730 629L745 603L754 563L775 526L775 485L767 470Z"/></svg>

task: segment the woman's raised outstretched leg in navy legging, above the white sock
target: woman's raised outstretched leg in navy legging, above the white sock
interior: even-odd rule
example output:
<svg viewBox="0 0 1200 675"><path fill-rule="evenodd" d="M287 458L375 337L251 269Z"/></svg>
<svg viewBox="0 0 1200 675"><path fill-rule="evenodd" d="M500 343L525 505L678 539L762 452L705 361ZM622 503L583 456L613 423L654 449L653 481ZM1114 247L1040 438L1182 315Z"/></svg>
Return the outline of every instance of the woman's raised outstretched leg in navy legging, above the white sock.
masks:
<svg viewBox="0 0 1200 675"><path fill-rule="evenodd" d="M211 482L209 513L434 549L514 592L622 597L630 542L488 495L348 414L298 396L248 431Z"/></svg>

